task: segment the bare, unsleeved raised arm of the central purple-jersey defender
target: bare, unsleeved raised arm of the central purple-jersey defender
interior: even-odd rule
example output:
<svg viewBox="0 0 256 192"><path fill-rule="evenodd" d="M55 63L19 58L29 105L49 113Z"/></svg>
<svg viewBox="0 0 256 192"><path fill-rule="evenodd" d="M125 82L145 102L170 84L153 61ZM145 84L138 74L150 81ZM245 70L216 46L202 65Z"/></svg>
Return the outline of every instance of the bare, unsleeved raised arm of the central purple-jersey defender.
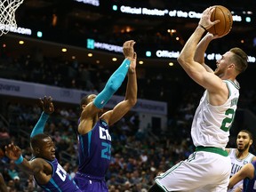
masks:
<svg viewBox="0 0 256 192"><path fill-rule="evenodd" d="M134 52L133 60L128 72L125 98L118 103L113 110L109 110L101 116L109 125L120 120L137 102L137 76L136 76L137 54Z"/></svg>

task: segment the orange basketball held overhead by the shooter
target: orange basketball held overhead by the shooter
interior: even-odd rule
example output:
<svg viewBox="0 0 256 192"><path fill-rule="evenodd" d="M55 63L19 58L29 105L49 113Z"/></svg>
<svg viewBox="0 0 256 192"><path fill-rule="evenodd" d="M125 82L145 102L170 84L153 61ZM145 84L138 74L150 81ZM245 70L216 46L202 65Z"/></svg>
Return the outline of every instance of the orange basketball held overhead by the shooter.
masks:
<svg viewBox="0 0 256 192"><path fill-rule="evenodd" d="M215 10L212 12L211 20L220 20L219 23L208 29L208 32L213 35L224 36L229 33L233 25L233 18L231 12L224 6L215 5Z"/></svg>

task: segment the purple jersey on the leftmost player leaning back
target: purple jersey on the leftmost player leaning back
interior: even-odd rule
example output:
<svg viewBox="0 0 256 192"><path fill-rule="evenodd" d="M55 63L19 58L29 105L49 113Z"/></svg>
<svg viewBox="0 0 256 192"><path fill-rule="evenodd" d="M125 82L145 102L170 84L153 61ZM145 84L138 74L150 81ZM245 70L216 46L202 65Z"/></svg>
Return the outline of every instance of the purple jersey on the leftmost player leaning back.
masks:
<svg viewBox="0 0 256 192"><path fill-rule="evenodd" d="M75 180L71 179L70 175L58 163L58 160L56 158L52 162L47 162L52 165L51 180L49 180L49 182L44 185L40 185L36 181L36 183L41 188L43 188L45 192L81 192L81 190L77 187Z"/></svg>

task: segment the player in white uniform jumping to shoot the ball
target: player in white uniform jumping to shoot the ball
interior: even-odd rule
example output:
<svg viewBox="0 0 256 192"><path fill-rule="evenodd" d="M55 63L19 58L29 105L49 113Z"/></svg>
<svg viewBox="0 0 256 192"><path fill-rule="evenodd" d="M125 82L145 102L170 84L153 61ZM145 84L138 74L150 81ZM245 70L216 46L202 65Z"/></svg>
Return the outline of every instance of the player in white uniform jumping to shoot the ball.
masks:
<svg viewBox="0 0 256 192"><path fill-rule="evenodd" d="M156 183L149 192L228 190L231 162L225 148L239 98L236 76L247 68L247 55L241 49L233 48L217 60L214 72L205 65L206 48L212 39L218 37L207 34L201 40L204 28L211 28L219 22L211 21L213 11L212 7L204 10L198 27L178 58L188 76L205 89L191 127L196 152L156 176Z"/></svg>

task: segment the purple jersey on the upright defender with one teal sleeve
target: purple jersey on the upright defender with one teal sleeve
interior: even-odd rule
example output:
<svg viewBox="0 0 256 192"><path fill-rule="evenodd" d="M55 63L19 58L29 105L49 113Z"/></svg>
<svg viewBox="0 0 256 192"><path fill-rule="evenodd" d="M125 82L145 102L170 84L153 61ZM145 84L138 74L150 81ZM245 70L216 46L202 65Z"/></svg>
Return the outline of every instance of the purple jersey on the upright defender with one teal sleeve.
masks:
<svg viewBox="0 0 256 192"><path fill-rule="evenodd" d="M111 157L108 124L99 120L91 132L78 135L78 172L104 180Z"/></svg>

